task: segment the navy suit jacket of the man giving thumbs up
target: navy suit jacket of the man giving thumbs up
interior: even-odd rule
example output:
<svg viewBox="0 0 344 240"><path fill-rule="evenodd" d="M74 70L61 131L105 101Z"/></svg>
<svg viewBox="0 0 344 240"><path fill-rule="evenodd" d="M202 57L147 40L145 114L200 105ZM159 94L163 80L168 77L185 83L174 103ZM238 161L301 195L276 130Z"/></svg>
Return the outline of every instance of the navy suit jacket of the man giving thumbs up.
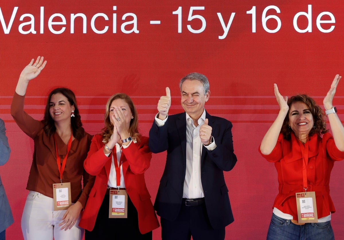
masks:
<svg viewBox="0 0 344 240"><path fill-rule="evenodd" d="M155 121L149 131L149 148L153 153L167 150L166 165L160 180L154 209L168 220L179 214L186 172L186 117L185 112L171 115L161 127ZM216 148L209 151L203 146L201 181L207 214L213 228L225 227L234 221L223 171L233 169L237 158L232 140L232 123L206 112L212 127Z"/></svg>

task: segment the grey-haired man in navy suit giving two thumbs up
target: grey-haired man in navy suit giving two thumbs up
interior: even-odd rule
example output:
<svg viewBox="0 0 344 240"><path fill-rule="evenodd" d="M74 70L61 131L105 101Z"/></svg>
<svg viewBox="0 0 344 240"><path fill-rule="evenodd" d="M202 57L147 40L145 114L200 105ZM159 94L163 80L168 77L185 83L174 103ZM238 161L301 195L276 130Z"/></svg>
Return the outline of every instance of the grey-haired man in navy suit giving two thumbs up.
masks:
<svg viewBox="0 0 344 240"><path fill-rule="evenodd" d="M234 221L223 175L237 161L233 125L205 111L210 91L203 74L183 77L180 92L185 112L168 116L171 94L166 87L149 131L151 151L167 150L154 203L162 239L224 239L225 226Z"/></svg>

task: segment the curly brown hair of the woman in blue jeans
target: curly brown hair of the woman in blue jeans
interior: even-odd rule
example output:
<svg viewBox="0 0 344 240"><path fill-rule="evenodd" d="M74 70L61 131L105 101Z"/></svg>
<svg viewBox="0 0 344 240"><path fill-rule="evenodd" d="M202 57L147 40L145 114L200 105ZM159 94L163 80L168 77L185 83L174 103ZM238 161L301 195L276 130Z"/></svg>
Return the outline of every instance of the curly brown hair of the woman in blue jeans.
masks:
<svg viewBox="0 0 344 240"><path fill-rule="evenodd" d="M295 102L301 102L307 105L308 109L311 111L314 119L314 127L309 133L309 136L312 136L313 134L324 134L328 132L329 130L326 129L326 122L324 119L324 112L321 109L319 105L316 104L313 98L307 96L306 94L300 94L300 95L295 95L292 96L291 98L288 99L288 114L286 118L283 121L283 125L281 128L281 133L283 134L284 138L289 140L290 139L290 132L292 131L289 128L289 111L290 111L290 106L295 103Z"/></svg>

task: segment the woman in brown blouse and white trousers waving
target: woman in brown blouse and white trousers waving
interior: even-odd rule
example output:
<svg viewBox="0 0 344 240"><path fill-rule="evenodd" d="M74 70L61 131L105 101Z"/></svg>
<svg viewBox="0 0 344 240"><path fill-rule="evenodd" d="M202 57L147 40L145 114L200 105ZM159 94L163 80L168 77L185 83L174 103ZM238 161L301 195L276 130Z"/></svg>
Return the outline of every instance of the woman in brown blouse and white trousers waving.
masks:
<svg viewBox="0 0 344 240"><path fill-rule="evenodd" d="M92 136L82 128L75 95L68 88L49 94L42 121L24 111L29 81L45 64L38 57L23 69L11 105L15 122L34 141L21 227L24 239L82 239L80 212L94 183L83 167Z"/></svg>

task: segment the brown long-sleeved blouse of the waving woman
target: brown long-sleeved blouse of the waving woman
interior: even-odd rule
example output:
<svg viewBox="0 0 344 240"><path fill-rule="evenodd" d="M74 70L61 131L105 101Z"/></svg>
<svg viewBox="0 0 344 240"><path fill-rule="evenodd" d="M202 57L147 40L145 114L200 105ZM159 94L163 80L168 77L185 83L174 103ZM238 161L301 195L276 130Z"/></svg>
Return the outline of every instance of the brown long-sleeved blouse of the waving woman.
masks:
<svg viewBox="0 0 344 240"><path fill-rule="evenodd" d="M33 159L26 189L53 198L52 184L60 182L54 136L48 137L43 130L43 123L33 119L24 111L24 98L25 96L14 93L11 115L19 128L34 141ZM92 136L88 133L85 133L81 140L73 140L62 175L62 182L71 183L72 202L79 201L83 207L86 205L88 194L95 179L84 169L84 160L87 157L91 140ZM56 134L56 144L62 164L67 153L67 145L58 134ZM81 185L82 178L83 189Z"/></svg>

